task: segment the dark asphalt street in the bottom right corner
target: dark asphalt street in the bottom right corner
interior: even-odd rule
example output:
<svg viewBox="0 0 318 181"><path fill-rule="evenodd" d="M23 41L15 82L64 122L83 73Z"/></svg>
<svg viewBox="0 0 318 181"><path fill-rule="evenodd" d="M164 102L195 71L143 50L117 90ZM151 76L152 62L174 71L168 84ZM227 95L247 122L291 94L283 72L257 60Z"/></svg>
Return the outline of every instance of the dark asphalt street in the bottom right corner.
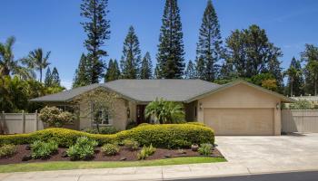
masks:
<svg viewBox="0 0 318 181"><path fill-rule="evenodd" d="M183 181L178 180L178 181ZM264 174L250 176L224 176L211 178L185 179L184 181L318 181L318 171Z"/></svg>

